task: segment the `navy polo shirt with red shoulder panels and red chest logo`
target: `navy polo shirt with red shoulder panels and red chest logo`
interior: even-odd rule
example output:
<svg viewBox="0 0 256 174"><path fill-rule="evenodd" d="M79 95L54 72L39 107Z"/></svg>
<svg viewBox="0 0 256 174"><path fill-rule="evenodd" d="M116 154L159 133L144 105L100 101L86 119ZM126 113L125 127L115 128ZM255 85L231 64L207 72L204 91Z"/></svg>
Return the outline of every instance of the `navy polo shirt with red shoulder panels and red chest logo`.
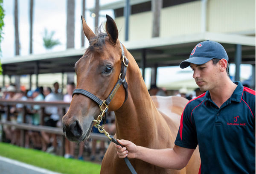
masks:
<svg viewBox="0 0 256 174"><path fill-rule="evenodd" d="M183 110L175 145L199 146L199 173L255 173L255 91L235 83L235 91L220 108L207 91Z"/></svg>

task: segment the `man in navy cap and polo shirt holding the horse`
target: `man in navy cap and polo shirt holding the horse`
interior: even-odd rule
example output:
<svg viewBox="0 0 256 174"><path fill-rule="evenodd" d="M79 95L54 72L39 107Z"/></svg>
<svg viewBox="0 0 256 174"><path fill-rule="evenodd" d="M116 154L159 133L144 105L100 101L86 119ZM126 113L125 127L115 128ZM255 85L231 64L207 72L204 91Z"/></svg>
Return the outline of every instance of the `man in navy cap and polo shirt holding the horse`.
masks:
<svg viewBox="0 0 256 174"><path fill-rule="evenodd" d="M184 108L174 148L118 140L125 147L116 145L117 155L181 169L199 145L202 174L255 173L255 91L230 80L227 53L217 42L197 44L180 68L189 65L198 87L207 92Z"/></svg>

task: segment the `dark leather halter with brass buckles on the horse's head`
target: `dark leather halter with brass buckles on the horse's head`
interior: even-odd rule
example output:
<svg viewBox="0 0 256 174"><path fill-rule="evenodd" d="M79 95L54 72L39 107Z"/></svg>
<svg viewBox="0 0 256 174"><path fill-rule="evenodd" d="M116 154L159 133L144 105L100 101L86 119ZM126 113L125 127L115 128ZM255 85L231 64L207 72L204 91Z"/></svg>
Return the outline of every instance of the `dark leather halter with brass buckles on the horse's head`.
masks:
<svg viewBox="0 0 256 174"><path fill-rule="evenodd" d="M90 99L92 99L94 102L96 102L97 104L99 104L99 106L103 106L105 105L106 107L108 107L108 105L110 104L111 100L113 99L114 95L116 94L116 91L119 89L119 87L121 86L121 84L123 85L124 89L125 89L125 101L127 100L128 98L128 84L125 80L125 75L126 75L126 70L127 70L127 67L128 67L128 59L125 57L125 51L124 51L124 48L122 46L122 43L120 42L120 46L121 46L121 50L122 50L122 64L121 64L121 71L120 71L120 74L119 74L119 79L118 81L116 82L115 86L113 87L113 90L111 91L111 93L109 94L108 98L105 99L105 100L101 100L99 99L99 97L95 96L93 93L90 93L89 91L87 90L83 90L83 89L75 89L73 91L73 94L72 94L72 97L75 95L75 94L82 94L84 96L87 96L89 97ZM125 103L124 101L124 103ZM108 108L106 110L104 110L105 113L108 112ZM103 114L105 114L103 113ZM104 124L105 124L105 121L106 121L106 117L103 118L103 121L104 121Z"/></svg>

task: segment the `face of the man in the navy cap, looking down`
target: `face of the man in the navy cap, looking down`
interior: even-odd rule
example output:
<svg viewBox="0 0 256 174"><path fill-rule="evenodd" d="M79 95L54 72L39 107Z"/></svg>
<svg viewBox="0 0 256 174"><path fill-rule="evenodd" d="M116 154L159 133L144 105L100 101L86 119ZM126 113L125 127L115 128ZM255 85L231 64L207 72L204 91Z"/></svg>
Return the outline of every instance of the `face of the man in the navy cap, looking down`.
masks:
<svg viewBox="0 0 256 174"><path fill-rule="evenodd" d="M218 84L220 72L218 70L218 63L212 64L208 61L202 65L190 64L193 70L193 78L201 91L212 90Z"/></svg>

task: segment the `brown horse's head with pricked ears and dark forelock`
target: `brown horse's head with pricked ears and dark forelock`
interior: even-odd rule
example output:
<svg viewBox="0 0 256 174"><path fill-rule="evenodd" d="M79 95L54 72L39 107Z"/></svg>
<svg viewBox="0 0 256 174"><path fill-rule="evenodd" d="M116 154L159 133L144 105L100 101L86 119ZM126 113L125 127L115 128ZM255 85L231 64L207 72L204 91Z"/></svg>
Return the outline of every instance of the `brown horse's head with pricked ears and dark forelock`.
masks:
<svg viewBox="0 0 256 174"><path fill-rule="evenodd" d="M97 35L87 26L83 17L82 23L84 35L89 40L90 46L75 64L77 88L92 93L93 95L90 96L95 95L102 101L108 99L112 94L111 99L113 99L108 110L117 110L125 101L126 93L124 87L117 87L113 91L116 82L122 76L120 75L122 49L117 39L116 23L107 15L105 27L107 33L99 32ZM80 142L90 136L94 124L93 120L97 119L101 111L99 104L93 101L90 96L82 95L78 89L75 91L70 108L62 119L62 125L67 139Z"/></svg>

